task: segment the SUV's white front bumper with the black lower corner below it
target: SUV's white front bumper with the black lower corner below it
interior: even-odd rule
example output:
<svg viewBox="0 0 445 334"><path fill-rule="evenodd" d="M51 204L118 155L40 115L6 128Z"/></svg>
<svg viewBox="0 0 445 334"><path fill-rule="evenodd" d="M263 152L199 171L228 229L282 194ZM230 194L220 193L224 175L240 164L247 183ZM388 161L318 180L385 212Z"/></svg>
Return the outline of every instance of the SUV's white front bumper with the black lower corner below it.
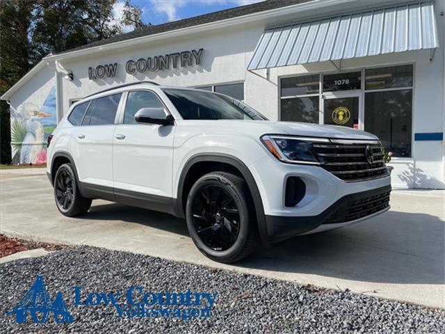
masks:
<svg viewBox="0 0 445 334"><path fill-rule="evenodd" d="M354 198L372 196L391 189L391 177L347 182L319 166L284 164L273 157L262 157L249 169L257 183L264 207L261 239L266 244L318 228L334 217L337 210ZM305 196L294 207L286 206L286 181L298 177L305 182ZM385 211L385 210L383 210ZM370 212L369 215L372 215ZM337 216L332 225L346 223L353 217ZM334 218L332 218L334 219Z"/></svg>

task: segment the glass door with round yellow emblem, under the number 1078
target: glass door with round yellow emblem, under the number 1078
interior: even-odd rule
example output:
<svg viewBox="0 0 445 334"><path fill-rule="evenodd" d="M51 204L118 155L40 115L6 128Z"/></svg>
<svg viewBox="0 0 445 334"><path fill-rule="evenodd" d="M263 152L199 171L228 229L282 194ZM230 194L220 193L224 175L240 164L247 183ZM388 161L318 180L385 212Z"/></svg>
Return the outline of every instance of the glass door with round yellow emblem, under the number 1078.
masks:
<svg viewBox="0 0 445 334"><path fill-rule="evenodd" d="M323 95L323 122L362 129L362 94Z"/></svg>

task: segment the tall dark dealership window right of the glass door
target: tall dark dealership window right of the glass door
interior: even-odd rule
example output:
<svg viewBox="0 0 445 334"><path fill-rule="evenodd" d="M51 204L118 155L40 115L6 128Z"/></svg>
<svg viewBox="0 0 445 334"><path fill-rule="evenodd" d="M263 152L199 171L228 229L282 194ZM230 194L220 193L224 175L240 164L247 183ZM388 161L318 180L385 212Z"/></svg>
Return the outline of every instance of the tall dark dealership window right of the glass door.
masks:
<svg viewBox="0 0 445 334"><path fill-rule="evenodd" d="M364 129L394 157L411 157L412 65L365 71Z"/></svg>

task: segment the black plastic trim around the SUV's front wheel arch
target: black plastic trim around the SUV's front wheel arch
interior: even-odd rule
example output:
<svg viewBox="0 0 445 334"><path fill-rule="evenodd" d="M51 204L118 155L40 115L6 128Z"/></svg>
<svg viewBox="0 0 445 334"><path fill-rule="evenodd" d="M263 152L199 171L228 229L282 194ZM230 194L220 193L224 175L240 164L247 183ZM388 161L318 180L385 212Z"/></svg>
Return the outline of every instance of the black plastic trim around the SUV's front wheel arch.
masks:
<svg viewBox="0 0 445 334"><path fill-rule="evenodd" d="M186 180L189 175L189 172L193 169L193 166L202 163L219 163L225 164L226 166L230 166L234 168L241 177L248 184L248 189L252 196L252 200L254 202L255 214L257 217L257 225L259 235L261 237L261 241L265 244L270 243L270 238L268 237L268 232L266 228L266 217L264 216L264 207L263 201L261 200L261 194L259 193L259 189L257 186L257 182L255 182L252 173L248 166L245 166L243 161L229 154L221 154L221 153L213 153L213 154L195 154L193 157L189 158L186 164L184 164L184 168L181 170L181 174L179 176L179 182L177 186L177 200L175 201L175 212L177 216L181 218L185 218L185 206L184 206L184 196L188 195L188 191L190 189L186 189ZM184 193L185 191L185 193Z"/></svg>

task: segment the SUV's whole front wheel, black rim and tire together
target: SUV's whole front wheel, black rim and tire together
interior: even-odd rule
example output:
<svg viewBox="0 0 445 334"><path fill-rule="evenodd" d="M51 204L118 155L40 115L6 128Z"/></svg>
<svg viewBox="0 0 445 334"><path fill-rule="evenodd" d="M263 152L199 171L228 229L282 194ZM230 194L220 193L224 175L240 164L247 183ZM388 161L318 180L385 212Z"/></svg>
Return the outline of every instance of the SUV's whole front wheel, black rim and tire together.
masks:
<svg viewBox="0 0 445 334"><path fill-rule="evenodd" d="M211 260L236 262L252 254L259 234L252 196L241 177L213 172L200 177L188 193L188 232Z"/></svg>

